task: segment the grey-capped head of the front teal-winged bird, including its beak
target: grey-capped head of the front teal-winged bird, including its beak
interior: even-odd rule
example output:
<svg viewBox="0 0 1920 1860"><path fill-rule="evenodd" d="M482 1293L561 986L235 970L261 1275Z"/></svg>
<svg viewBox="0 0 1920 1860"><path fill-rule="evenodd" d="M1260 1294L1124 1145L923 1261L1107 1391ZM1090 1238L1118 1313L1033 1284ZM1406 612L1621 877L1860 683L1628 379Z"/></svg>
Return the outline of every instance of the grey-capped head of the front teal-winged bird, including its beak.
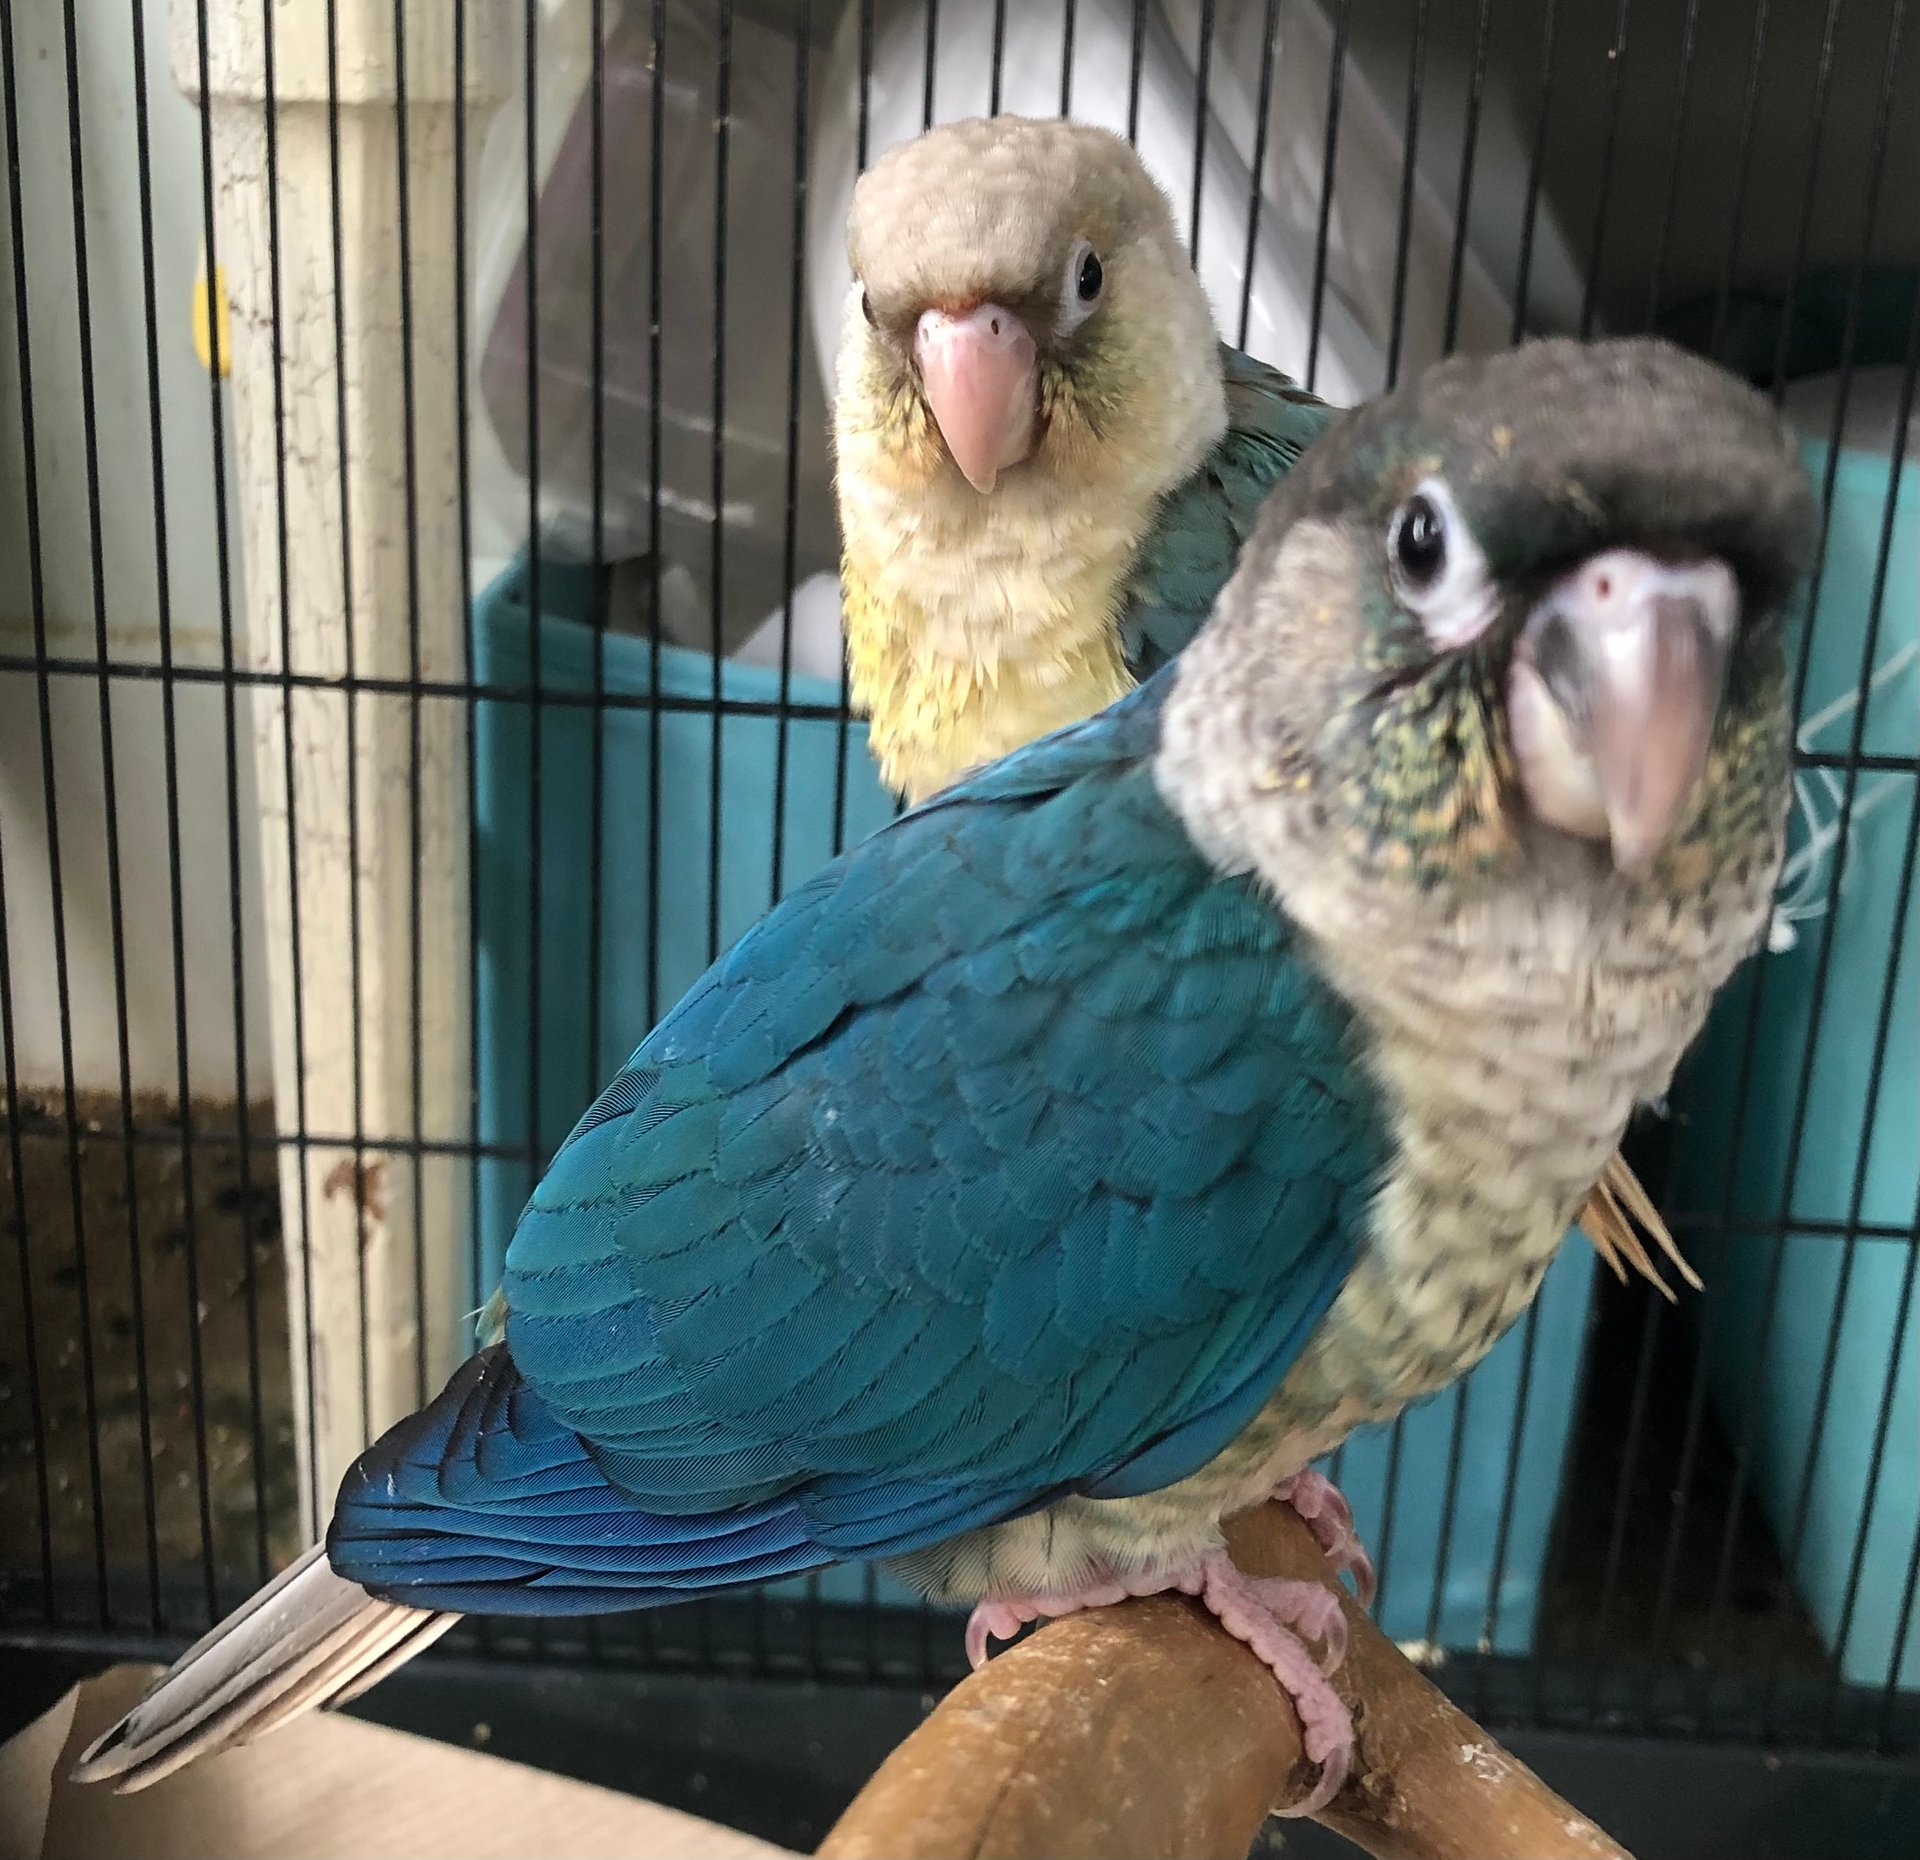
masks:
<svg viewBox="0 0 1920 1860"><path fill-rule="evenodd" d="M1436 902L1764 887L1812 536L1780 417L1680 349L1430 369L1281 484L1188 649L1188 701L1244 729L1233 837Z"/></svg>

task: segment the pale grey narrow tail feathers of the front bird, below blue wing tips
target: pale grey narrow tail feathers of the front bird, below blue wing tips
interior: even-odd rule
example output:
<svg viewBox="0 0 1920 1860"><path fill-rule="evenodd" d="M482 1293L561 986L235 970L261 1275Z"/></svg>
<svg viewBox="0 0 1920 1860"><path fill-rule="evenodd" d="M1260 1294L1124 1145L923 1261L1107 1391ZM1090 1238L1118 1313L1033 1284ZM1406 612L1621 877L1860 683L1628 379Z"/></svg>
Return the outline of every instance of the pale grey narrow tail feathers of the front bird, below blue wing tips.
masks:
<svg viewBox="0 0 1920 1860"><path fill-rule="evenodd" d="M378 1601L315 1545L205 1639L73 1768L75 1781L144 1789L209 1751L250 1743L317 1705L342 1705L459 1620Z"/></svg>

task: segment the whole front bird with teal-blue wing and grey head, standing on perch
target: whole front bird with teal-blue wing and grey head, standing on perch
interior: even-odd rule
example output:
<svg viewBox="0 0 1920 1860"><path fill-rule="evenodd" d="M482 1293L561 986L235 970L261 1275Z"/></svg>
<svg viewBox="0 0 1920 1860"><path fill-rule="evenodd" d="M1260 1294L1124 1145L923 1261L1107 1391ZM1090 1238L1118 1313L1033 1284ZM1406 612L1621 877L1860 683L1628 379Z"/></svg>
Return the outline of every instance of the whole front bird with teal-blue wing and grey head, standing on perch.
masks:
<svg viewBox="0 0 1920 1860"><path fill-rule="evenodd" d="M1354 1749L1221 1522L1473 1367L1755 948L1812 499L1653 342L1334 420L1212 618L770 912L507 1255L505 1340L81 1762L140 1787L457 1612L885 1559L970 1645L1177 1589Z"/></svg>

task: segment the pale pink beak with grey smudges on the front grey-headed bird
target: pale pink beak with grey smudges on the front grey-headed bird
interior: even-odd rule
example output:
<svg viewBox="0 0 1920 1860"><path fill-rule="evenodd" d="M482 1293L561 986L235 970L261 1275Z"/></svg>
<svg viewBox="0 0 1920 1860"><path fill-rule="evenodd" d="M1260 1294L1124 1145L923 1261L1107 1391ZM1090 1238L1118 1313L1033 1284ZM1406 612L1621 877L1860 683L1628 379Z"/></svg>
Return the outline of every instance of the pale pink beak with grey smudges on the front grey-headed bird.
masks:
<svg viewBox="0 0 1920 1860"><path fill-rule="evenodd" d="M1609 549L1534 607L1507 689L1534 814L1645 871L1707 766L1740 585L1724 562Z"/></svg>

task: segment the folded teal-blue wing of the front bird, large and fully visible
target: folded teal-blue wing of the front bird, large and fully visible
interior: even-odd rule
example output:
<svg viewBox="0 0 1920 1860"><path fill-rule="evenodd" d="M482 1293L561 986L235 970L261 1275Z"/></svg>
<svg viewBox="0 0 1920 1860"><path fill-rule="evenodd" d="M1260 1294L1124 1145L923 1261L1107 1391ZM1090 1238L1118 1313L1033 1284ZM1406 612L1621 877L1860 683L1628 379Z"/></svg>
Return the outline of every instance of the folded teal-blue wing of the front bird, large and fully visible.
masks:
<svg viewBox="0 0 1920 1860"><path fill-rule="evenodd" d="M591 1555L636 1605L1152 1490L1252 1419L1384 1138L1348 1010L1160 799L1164 685L900 818L707 973L520 1217L518 1428L457 1378L349 1478L342 1574L497 1607L426 1564L538 1545L541 1586ZM411 1547L445 1530L484 1543Z"/></svg>

